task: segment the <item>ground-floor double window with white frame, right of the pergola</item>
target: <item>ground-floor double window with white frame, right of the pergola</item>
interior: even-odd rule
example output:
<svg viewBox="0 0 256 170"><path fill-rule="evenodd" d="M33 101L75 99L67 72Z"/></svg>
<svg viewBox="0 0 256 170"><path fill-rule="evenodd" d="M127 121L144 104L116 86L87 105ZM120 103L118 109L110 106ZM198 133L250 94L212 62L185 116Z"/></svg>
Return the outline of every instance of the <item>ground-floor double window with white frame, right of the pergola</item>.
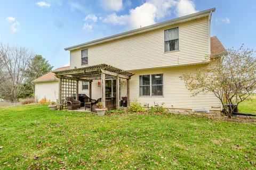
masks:
<svg viewBox="0 0 256 170"><path fill-rule="evenodd" d="M140 75L140 96L163 96L163 74Z"/></svg>

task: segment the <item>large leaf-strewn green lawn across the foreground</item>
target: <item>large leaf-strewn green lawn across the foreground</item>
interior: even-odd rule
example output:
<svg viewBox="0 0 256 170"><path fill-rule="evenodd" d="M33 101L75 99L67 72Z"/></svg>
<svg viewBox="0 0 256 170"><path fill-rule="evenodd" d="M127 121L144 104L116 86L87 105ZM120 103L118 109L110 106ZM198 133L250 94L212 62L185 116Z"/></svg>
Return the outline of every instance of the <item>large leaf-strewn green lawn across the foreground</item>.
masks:
<svg viewBox="0 0 256 170"><path fill-rule="evenodd" d="M255 169L256 125L0 108L0 169Z"/></svg>

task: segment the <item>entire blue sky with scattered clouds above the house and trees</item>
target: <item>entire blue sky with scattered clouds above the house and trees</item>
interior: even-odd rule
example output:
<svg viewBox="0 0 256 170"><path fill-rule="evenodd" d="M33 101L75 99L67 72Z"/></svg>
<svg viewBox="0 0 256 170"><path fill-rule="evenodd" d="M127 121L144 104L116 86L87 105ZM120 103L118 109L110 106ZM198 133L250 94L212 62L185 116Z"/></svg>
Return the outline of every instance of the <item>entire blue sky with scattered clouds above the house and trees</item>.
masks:
<svg viewBox="0 0 256 170"><path fill-rule="evenodd" d="M256 1L0 0L0 41L69 64L65 47L216 7L211 36L226 48L256 49Z"/></svg>

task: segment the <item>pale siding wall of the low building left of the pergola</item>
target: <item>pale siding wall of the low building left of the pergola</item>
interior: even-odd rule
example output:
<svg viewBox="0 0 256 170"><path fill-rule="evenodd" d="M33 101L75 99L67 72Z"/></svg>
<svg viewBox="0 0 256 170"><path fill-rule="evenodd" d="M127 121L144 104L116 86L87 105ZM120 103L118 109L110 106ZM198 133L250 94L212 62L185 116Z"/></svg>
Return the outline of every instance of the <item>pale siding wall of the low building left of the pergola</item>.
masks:
<svg viewBox="0 0 256 170"><path fill-rule="evenodd" d="M44 97L51 101L56 101L59 98L58 81L35 83L35 99L40 101Z"/></svg>

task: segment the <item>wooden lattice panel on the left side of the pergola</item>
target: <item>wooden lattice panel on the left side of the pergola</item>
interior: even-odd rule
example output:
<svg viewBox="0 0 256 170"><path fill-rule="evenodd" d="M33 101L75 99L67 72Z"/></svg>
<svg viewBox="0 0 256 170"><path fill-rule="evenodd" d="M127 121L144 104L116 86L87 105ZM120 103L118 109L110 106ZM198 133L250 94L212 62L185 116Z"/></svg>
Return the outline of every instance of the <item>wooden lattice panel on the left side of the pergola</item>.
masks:
<svg viewBox="0 0 256 170"><path fill-rule="evenodd" d="M61 79L61 103L63 108L67 108L66 98L76 96L76 80Z"/></svg>

